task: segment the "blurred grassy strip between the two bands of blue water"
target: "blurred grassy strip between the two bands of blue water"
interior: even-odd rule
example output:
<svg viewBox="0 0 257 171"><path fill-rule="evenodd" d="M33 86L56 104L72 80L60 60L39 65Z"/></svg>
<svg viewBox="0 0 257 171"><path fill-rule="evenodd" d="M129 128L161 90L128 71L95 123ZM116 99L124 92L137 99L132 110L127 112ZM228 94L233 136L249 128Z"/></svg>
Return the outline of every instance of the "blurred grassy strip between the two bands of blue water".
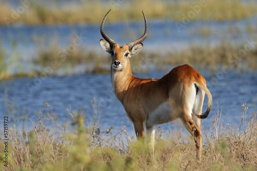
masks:
<svg viewBox="0 0 257 171"><path fill-rule="evenodd" d="M14 48L15 49L15 48ZM108 73L111 58L107 53L98 53L94 49L76 48L67 55L58 55L62 48L57 43L52 43L50 48L40 46L36 48L36 58L26 63L26 66L37 66L25 72L22 64L22 56L15 54L12 60L7 61L7 55L4 49L0 48L0 80L13 77L34 77L42 74L42 68L50 67L52 71L49 75L62 73L70 75L72 73ZM217 47L191 45L189 49L177 50L166 53L159 52L140 52L130 59L132 72L141 73L150 71L149 66L162 69L163 66L178 66L189 64L196 69L207 68L212 72L225 66L228 69L237 69L239 71L256 71L257 69L257 49L252 48L244 51L244 45L232 46L222 43ZM79 71L74 71L78 65L83 66ZM15 67L16 73L10 70ZM40 70L41 69L41 70ZM168 71L164 71L168 72Z"/></svg>

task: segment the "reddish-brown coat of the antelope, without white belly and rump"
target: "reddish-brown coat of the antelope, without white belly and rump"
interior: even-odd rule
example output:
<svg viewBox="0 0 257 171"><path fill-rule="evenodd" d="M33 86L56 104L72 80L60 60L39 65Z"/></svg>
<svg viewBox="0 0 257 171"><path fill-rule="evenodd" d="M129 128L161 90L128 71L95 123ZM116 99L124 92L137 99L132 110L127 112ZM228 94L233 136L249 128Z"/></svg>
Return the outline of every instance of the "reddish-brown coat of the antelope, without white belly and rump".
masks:
<svg viewBox="0 0 257 171"><path fill-rule="evenodd" d="M112 51L114 52L112 62L120 61L122 64L119 70L111 67L114 92L124 106L127 116L132 120L137 137L145 136L143 122L150 113L163 102L170 102L176 111L177 116L174 118L180 118L194 137L199 159L202 146L200 122L195 124L191 117L192 111L187 103L192 93L190 86L194 83L197 83L205 92L208 91L208 96L211 96L206 88L205 78L189 65L175 67L161 79L136 78L132 74L130 60L124 57L125 52L130 52L127 45L120 47L114 44ZM201 109L197 114L201 114Z"/></svg>

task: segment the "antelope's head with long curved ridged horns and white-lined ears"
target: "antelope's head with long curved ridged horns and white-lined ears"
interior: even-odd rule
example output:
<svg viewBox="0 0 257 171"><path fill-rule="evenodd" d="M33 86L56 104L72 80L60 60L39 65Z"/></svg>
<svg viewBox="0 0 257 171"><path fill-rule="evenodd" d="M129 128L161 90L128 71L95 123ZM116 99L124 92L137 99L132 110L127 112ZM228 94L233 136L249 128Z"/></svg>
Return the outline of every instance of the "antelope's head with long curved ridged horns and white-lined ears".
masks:
<svg viewBox="0 0 257 171"><path fill-rule="evenodd" d="M100 44L102 48L112 55L112 69L114 71L122 71L127 67L130 67L129 58L134 54L137 54L142 48L142 42L145 40L148 35L148 24L144 16L145 30L144 34L137 40L127 43L123 46L119 46L114 40L112 40L108 35L104 33L104 23L106 20L106 16L111 10L109 10L103 18L100 32L103 39L100 40ZM143 12L143 11L142 11Z"/></svg>

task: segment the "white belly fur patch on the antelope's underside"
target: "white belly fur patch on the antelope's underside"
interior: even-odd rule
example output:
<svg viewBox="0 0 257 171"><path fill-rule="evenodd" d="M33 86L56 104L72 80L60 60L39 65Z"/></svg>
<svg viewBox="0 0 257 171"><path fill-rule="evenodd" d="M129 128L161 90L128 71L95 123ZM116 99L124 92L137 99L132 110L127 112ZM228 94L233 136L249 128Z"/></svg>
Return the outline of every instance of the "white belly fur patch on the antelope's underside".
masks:
<svg viewBox="0 0 257 171"><path fill-rule="evenodd" d="M153 112L149 114L146 121L146 126L154 126L157 124L163 124L171 122L176 119L174 110L170 103L164 102L160 104Z"/></svg>

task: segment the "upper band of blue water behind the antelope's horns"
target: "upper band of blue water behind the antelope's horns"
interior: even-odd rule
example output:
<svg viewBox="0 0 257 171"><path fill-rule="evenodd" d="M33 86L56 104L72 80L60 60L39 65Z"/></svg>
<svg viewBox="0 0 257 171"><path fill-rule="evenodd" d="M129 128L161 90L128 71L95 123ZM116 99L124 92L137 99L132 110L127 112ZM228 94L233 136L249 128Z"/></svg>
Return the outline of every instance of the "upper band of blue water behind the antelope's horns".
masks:
<svg viewBox="0 0 257 171"><path fill-rule="evenodd" d="M142 18L143 19L143 18ZM36 58L36 50L50 48L53 37L60 47L67 48L76 36L83 37L82 44L77 48L85 50L99 50L99 40L102 39L99 24L85 25L54 25L54 26L27 26L13 23L10 27L0 27L0 43L7 52L22 52L22 59ZM257 16L247 20L228 22L190 22L185 28L178 29L174 21L153 20L148 22L149 35L143 42L145 51L174 51L189 48L190 46L218 46L221 42L242 45L247 39L256 39ZM252 28L252 32L248 29ZM108 23L105 32L118 44L131 42L143 34L144 22ZM205 34L204 30L207 30ZM16 47L17 46L17 47ZM14 47L16 50L13 51ZM103 52L103 51L100 51Z"/></svg>

